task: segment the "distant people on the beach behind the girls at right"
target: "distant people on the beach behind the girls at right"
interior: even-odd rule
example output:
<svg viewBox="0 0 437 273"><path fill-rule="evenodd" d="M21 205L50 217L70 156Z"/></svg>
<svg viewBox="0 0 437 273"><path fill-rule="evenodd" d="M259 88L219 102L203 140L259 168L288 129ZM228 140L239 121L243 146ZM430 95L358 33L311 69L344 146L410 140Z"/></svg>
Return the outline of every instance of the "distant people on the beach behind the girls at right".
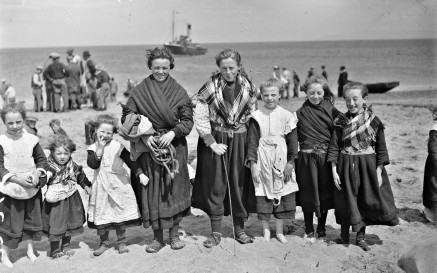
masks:
<svg viewBox="0 0 437 273"><path fill-rule="evenodd" d="M328 72L326 71L325 65L321 66L321 73L320 75L324 77L326 80L328 80ZM305 80L305 84L302 86L300 85L300 78L299 75L295 70L293 70L293 73L291 73L286 67L282 67L282 69L275 65L273 66L273 73L272 76L274 79L277 79L281 82L281 88L280 88L280 94L281 98L289 99L289 98L298 98L299 97L299 90L304 91L306 90L306 86L308 85L309 79L314 76L316 73L314 71L314 68L311 67L310 70L308 70L308 75ZM340 74L338 76L338 97L343 96L343 86L346 85L349 82L348 80L348 74L346 71L345 66L340 66ZM290 86L291 83L293 83L293 94L290 93Z"/></svg>

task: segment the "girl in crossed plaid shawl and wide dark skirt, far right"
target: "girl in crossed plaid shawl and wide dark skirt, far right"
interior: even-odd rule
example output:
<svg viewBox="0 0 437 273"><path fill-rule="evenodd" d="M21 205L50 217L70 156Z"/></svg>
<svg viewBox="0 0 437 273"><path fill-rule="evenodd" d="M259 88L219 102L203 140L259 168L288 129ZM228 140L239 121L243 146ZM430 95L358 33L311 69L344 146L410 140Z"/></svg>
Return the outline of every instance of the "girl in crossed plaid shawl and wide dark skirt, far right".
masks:
<svg viewBox="0 0 437 273"><path fill-rule="evenodd" d="M350 82L343 87L348 111L335 121L328 151L332 165L335 217L341 225L338 243L349 243L349 228L357 232L356 244L370 249L366 226L399 223L385 165L390 163L384 125L367 107L367 87Z"/></svg>

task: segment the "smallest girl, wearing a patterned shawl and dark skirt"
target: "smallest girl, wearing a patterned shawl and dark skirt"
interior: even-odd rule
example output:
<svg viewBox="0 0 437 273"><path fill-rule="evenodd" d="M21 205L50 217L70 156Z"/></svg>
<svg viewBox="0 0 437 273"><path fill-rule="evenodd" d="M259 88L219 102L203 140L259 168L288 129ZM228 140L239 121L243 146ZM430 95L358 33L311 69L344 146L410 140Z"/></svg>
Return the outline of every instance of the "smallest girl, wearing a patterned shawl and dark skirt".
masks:
<svg viewBox="0 0 437 273"><path fill-rule="evenodd" d="M76 145L66 136L54 136L48 157L47 192L43 203L43 230L50 241L50 257L73 256L72 236L83 233L85 209L76 185L91 194L91 182L71 158Z"/></svg>

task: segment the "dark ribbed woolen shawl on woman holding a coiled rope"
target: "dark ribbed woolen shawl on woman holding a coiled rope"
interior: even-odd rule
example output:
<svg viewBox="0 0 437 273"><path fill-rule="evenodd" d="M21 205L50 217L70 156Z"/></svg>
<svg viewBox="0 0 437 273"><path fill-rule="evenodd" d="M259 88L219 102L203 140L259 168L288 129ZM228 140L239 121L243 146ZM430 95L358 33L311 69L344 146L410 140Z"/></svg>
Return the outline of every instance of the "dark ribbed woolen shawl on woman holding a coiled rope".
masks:
<svg viewBox="0 0 437 273"><path fill-rule="evenodd" d="M146 116L156 130L176 126L174 113L190 101L187 91L170 75L158 82L150 75L132 89L126 107Z"/></svg>

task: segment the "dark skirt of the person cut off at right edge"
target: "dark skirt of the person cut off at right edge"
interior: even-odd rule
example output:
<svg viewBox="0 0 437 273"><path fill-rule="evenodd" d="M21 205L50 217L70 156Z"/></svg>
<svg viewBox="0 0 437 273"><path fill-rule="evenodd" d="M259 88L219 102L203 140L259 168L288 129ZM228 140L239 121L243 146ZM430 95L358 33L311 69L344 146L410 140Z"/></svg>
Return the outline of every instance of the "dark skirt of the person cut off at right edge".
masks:
<svg viewBox="0 0 437 273"><path fill-rule="evenodd" d="M430 155L425 163L423 205L429 209L437 209L437 169L436 162Z"/></svg>

